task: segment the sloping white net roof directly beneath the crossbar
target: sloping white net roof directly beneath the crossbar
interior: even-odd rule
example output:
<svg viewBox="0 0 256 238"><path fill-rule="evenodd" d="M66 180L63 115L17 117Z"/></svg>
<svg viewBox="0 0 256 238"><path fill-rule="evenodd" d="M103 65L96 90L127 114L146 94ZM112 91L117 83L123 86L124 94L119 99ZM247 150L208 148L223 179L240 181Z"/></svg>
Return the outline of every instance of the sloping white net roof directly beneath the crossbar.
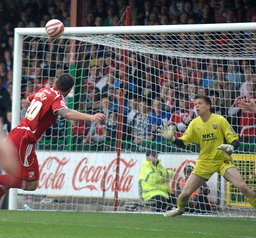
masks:
<svg viewBox="0 0 256 238"><path fill-rule="evenodd" d="M255 32L188 32L179 34L68 36L90 43L170 57L254 59Z"/></svg>

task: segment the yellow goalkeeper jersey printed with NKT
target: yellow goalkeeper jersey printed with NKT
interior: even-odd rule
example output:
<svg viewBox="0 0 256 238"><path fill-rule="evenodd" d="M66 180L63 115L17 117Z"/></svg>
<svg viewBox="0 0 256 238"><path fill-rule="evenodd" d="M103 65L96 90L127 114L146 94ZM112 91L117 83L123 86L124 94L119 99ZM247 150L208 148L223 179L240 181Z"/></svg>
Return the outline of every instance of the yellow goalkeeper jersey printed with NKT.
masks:
<svg viewBox="0 0 256 238"><path fill-rule="evenodd" d="M186 146L192 142L200 146L197 161L218 163L229 159L229 156L216 148L225 140L232 143L239 137L223 116L212 114L207 122L203 122L200 116L193 119L180 139Z"/></svg>

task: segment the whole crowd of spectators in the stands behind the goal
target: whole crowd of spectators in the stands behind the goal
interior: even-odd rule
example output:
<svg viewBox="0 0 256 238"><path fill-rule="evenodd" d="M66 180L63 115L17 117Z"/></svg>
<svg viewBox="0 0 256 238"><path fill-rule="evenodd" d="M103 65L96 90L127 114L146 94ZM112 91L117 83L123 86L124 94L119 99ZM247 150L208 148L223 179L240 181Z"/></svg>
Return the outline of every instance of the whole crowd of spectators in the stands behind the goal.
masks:
<svg viewBox="0 0 256 238"><path fill-rule="evenodd" d="M126 6L131 6L131 25L194 24L255 22L256 4L249 0L195 1L86 1L86 26L122 26ZM36 14L35 14L36 13ZM15 27L44 27L48 20L60 19L70 26L70 2L15 1L7 5L0 0L0 113L5 131L10 131L10 111L13 94L13 49ZM248 33L248 32L247 32ZM218 34L217 51L226 49L229 39ZM159 36L162 37L162 36ZM167 37L167 36L164 36ZM170 36L170 48L180 50L184 43L193 42L185 35ZM194 37L194 38L193 38ZM203 49L212 47L210 35L201 35ZM233 37L233 36L232 36ZM209 40L208 40L209 38ZM233 37L234 38L234 37ZM235 37L236 38L236 37ZM199 38L198 38L199 39ZM149 38L151 43L157 41ZM245 40L239 41L244 43ZM47 43L47 44L45 44ZM67 52L67 40L34 39L23 53L22 102L20 118L26 112L28 94L42 87L53 86L56 78L68 72L71 60L78 59ZM183 47L181 47L183 45ZM193 45L192 45L193 47ZM255 48L255 47L254 47ZM25 46L26 49L26 46ZM191 51L192 48L189 48ZM254 49L255 50L255 49ZM81 49L79 50L81 51ZM29 52L29 55L28 55ZM255 143L255 116L237 107L240 99L256 100L254 60L216 60L200 57L167 57L149 53L129 52L127 74L122 85L123 51L97 44L84 49L81 110L102 111L106 122L88 124L72 122L74 143L93 144L115 141L118 136L120 95L123 102L123 140L137 145L145 141L162 141L156 131L167 122L176 125L177 137L197 116L193 98L196 93L209 95L212 112L224 115L241 136L241 141ZM66 123L59 118L47 135L64 137ZM60 135L61 134L61 135Z"/></svg>

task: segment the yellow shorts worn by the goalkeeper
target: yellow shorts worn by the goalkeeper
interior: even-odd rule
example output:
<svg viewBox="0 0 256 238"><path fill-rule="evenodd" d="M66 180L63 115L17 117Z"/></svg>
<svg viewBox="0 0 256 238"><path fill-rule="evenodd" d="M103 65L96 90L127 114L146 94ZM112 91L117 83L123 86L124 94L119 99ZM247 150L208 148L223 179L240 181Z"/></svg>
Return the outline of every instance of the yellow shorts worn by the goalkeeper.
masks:
<svg viewBox="0 0 256 238"><path fill-rule="evenodd" d="M192 174L208 180L216 172L224 177L226 170L229 168L236 168L232 160L220 161L219 163L197 161Z"/></svg>

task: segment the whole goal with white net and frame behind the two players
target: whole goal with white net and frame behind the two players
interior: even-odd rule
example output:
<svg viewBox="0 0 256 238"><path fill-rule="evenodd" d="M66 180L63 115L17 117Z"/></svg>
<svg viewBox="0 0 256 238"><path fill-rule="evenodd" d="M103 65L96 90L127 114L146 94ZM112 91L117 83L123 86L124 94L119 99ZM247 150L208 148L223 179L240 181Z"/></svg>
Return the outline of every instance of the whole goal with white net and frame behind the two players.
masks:
<svg viewBox="0 0 256 238"><path fill-rule="evenodd" d="M75 78L66 98L69 108L103 112L108 119L89 123L58 118L36 147L38 189L12 190L11 209L167 209L164 203L159 208L160 201L148 200L152 195L170 196L168 208L175 207L199 150L195 144L178 148L156 131L168 123L176 126L176 137L183 135L197 117L197 93L209 95L212 112L225 116L240 135L234 164L256 191L256 116L237 107L239 99L256 99L255 27L77 27L65 28L59 39L47 37L43 28L16 28L13 126L26 112L24 99L54 86L61 73ZM158 152L164 172L140 172L148 149L153 155ZM236 187L217 173L193 193L186 212L256 215Z"/></svg>

